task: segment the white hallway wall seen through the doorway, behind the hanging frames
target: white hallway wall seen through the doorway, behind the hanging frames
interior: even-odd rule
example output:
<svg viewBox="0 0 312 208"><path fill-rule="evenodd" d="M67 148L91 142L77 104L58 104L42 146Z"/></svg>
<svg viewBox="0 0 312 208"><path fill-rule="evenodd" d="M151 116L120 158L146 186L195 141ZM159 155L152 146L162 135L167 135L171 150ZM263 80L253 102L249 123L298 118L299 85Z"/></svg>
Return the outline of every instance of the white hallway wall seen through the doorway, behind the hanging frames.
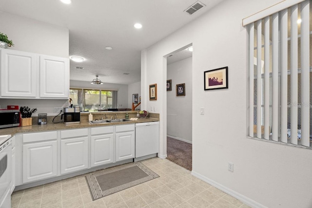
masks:
<svg viewBox="0 0 312 208"><path fill-rule="evenodd" d="M167 65L167 135L192 143L192 57ZM185 83L185 96L176 96L176 84Z"/></svg>

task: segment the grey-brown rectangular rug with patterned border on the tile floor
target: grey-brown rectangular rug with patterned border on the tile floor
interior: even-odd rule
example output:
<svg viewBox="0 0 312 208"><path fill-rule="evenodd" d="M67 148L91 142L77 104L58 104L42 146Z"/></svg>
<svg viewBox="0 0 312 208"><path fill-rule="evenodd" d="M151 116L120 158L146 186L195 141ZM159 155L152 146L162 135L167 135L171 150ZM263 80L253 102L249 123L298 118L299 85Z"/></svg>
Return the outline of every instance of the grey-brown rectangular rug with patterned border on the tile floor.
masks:
<svg viewBox="0 0 312 208"><path fill-rule="evenodd" d="M98 171L86 176L92 200L134 187L159 176L140 162Z"/></svg>

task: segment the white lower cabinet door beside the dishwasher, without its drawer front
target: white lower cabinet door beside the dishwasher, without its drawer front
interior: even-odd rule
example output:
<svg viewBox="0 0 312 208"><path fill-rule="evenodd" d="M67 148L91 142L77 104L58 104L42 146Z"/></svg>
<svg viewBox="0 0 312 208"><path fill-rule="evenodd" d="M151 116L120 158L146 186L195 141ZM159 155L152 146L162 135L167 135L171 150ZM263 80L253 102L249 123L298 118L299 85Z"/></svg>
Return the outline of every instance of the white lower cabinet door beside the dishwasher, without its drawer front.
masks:
<svg viewBox="0 0 312 208"><path fill-rule="evenodd" d="M116 161L135 157L135 132L116 133Z"/></svg>

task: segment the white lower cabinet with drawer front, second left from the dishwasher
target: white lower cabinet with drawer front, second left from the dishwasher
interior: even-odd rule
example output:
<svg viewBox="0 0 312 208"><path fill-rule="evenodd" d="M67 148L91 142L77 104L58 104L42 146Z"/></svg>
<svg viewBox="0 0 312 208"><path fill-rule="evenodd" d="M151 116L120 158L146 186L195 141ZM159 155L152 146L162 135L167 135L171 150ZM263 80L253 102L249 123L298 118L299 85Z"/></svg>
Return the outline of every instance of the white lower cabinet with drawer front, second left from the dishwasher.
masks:
<svg viewBox="0 0 312 208"><path fill-rule="evenodd" d="M113 126L91 129L91 167L114 162L113 133Z"/></svg>

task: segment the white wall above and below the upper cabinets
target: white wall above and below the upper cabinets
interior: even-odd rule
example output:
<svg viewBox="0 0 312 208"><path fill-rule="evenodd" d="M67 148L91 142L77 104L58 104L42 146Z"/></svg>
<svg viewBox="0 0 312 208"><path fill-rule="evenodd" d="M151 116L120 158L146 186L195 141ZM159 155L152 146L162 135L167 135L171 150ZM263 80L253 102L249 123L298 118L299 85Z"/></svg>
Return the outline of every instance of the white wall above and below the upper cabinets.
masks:
<svg viewBox="0 0 312 208"><path fill-rule="evenodd" d="M12 39L15 44L11 50L26 51L56 57L69 56L69 31L67 28L43 23L34 19L0 11L0 32ZM67 100L43 99L0 99L1 108L7 105L28 106L38 108L38 113L53 113L54 107L67 107Z"/></svg>

